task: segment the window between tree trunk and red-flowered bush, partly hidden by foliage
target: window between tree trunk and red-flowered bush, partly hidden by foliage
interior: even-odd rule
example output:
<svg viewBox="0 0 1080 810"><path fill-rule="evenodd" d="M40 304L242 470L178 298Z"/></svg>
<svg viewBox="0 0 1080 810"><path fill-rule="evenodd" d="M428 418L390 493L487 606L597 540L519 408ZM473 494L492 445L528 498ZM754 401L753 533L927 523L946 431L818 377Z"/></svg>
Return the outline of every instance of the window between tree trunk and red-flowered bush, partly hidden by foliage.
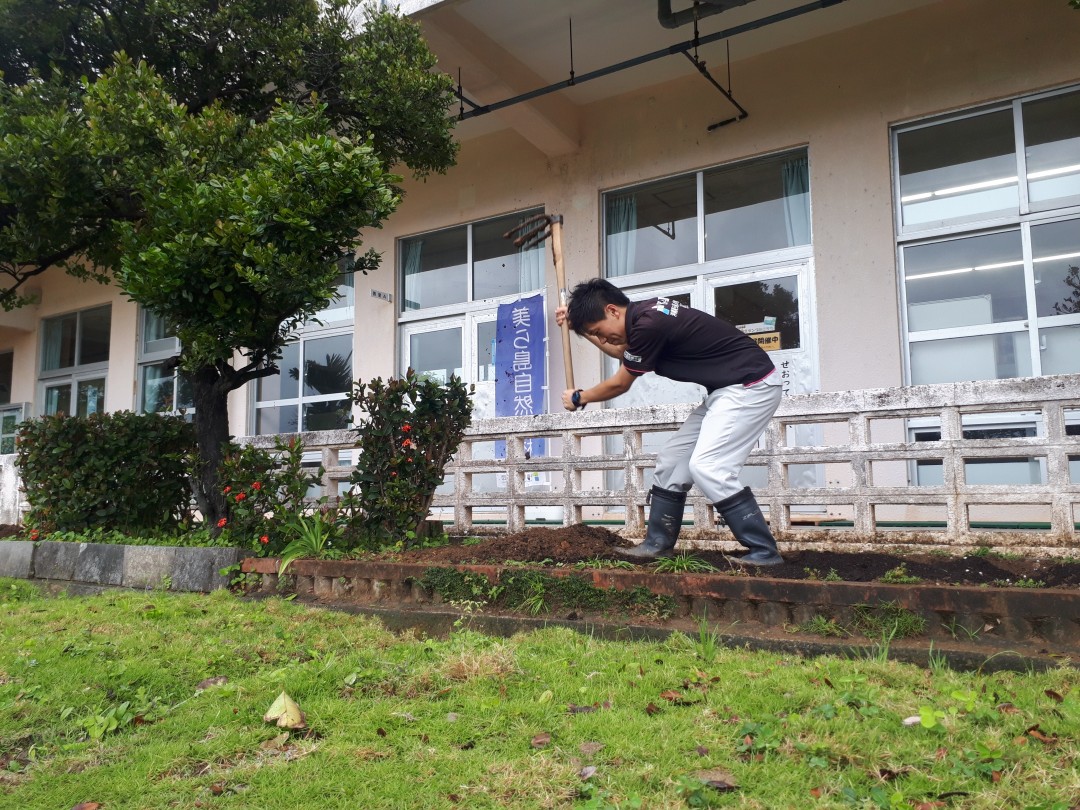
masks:
<svg viewBox="0 0 1080 810"><path fill-rule="evenodd" d="M342 273L334 300L285 346L280 372L255 381L256 434L349 427L353 307L353 276Z"/></svg>

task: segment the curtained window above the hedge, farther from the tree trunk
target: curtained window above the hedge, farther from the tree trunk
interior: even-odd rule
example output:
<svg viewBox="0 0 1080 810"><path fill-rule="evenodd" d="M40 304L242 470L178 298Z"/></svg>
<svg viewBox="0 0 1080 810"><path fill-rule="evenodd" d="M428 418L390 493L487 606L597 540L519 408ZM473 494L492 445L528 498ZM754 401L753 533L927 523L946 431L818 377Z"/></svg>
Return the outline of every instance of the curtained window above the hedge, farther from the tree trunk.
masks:
<svg viewBox="0 0 1080 810"><path fill-rule="evenodd" d="M42 321L42 413L89 416L105 409L111 307Z"/></svg>

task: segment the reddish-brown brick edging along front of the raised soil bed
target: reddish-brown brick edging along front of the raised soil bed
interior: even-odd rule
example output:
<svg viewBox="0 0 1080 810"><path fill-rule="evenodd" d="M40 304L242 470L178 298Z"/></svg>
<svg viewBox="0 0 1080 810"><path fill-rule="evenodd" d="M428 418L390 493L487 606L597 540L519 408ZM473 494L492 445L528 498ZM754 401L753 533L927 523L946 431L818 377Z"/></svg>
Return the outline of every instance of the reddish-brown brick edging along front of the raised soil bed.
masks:
<svg viewBox="0 0 1080 810"><path fill-rule="evenodd" d="M298 559L293 588L300 596L368 606L438 605L437 594L419 581L431 567L485 575L492 583L519 566L366 563ZM245 558L241 570L262 576L261 591L278 589L278 561ZM815 616L851 624L856 608L895 603L927 620L923 638L934 644L963 642L987 653L1023 647L1032 653L1080 659L1080 592L969 585L890 585L877 582L823 582L707 573L650 573L618 569L536 567L554 577L580 577L595 588L644 586L673 597L681 617L707 616L717 627L780 629ZM959 632L958 632L959 631ZM850 644L848 646L851 646Z"/></svg>

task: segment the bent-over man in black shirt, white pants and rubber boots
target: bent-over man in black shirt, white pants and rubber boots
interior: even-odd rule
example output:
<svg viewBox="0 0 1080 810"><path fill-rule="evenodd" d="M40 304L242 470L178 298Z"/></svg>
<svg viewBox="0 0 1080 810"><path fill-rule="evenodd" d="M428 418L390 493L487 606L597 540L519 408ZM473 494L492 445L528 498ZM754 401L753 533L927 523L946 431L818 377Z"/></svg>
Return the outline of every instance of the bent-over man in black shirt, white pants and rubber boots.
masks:
<svg viewBox="0 0 1080 810"><path fill-rule="evenodd" d="M657 456L645 541L618 553L639 562L669 556L683 526L686 494L697 484L748 550L731 562L783 563L754 494L739 483L783 391L768 353L726 321L671 298L632 302L604 279L578 284L567 306L555 310L555 321L621 362L603 382L564 391L567 410L619 396L647 372L705 387L704 401Z"/></svg>

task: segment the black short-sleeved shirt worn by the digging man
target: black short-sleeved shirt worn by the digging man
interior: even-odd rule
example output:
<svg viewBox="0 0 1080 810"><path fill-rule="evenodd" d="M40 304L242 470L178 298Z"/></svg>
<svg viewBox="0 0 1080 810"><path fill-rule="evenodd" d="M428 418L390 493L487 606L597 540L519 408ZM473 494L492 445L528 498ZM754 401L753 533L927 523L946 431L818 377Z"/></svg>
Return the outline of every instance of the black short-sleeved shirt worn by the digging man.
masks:
<svg viewBox="0 0 1080 810"><path fill-rule="evenodd" d="M622 364L634 376L656 372L710 392L757 382L775 368L761 347L727 321L671 298L626 307Z"/></svg>

